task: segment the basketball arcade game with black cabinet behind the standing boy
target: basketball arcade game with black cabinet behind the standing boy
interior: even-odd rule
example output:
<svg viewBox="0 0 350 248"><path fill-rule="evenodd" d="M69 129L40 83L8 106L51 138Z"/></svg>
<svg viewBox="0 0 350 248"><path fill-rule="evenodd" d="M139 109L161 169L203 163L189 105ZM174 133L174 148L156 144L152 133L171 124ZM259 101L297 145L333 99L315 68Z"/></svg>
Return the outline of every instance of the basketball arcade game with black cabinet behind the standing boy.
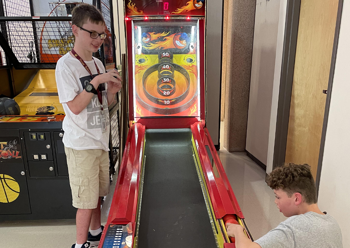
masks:
<svg viewBox="0 0 350 248"><path fill-rule="evenodd" d="M114 68L112 2L87 3L97 5L106 21L107 38L94 56L105 67ZM30 71L33 76L25 78L28 87L14 94L21 115L0 116L0 220L75 218L62 143L64 111L54 69L57 60L74 45L70 14L78 4L43 0L0 2L0 45L6 60L17 74L28 75ZM116 100L117 104L109 109L110 173L119 153L118 97Z"/></svg>

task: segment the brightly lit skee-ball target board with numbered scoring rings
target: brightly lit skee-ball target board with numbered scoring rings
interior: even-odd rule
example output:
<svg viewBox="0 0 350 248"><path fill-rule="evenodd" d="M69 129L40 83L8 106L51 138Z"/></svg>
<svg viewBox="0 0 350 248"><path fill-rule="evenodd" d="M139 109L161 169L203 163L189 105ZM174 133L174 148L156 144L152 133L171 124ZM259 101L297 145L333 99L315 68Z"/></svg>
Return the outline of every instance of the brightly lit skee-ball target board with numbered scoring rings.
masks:
<svg viewBox="0 0 350 248"><path fill-rule="evenodd" d="M134 117L199 117L198 20L132 20L132 30Z"/></svg>

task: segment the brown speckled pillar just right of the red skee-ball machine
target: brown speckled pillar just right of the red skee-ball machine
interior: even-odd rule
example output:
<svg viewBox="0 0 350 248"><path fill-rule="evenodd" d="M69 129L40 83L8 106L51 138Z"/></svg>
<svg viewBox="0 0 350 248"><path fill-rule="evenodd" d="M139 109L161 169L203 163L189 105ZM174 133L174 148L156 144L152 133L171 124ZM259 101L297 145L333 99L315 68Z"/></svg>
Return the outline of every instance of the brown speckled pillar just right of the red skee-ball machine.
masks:
<svg viewBox="0 0 350 248"><path fill-rule="evenodd" d="M255 0L228 1L224 147L245 150Z"/></svg>

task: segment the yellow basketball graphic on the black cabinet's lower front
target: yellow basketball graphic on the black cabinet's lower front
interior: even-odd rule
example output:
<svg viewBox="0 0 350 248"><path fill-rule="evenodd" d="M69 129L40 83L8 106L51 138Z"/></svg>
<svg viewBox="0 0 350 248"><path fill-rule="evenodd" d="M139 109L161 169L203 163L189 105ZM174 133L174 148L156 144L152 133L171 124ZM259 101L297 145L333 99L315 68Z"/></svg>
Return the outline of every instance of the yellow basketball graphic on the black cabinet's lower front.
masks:
<svg viewBox="0 0 350 248"><path fill-rule="evenodd" d="M18 182L9 175L0 174L0 202L9 203L17 199L20 194Z"/></svg>

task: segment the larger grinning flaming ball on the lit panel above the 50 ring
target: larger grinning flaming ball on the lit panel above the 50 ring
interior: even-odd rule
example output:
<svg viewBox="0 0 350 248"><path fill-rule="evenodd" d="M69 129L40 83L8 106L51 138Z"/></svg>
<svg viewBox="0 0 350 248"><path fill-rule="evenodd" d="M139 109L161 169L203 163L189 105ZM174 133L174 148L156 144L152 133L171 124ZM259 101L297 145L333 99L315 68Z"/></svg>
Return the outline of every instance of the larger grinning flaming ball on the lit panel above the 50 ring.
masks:
<svg viewBox="0 0 350 248"><path fill-rule="evenodd" d="M178 48L182 49L187 46L189 41L188 35L186 33L176 33L164 37L163 41L157 41L155 43L148 43L146 46L143 46L146 49L169 49L169 48Z"/></svg>

